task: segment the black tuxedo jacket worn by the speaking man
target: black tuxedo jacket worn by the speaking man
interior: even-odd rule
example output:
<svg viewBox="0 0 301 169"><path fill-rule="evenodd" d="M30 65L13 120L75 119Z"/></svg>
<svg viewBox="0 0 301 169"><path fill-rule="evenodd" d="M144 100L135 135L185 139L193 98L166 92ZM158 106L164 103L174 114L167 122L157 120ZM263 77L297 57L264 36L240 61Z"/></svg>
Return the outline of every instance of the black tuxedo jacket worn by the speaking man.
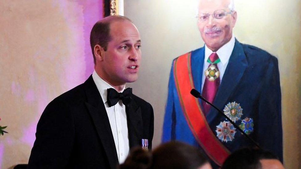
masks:
<svg viewBox="0 0 301 169"><path fill-rule="evenodd" d="M133 95L126 106L130 148L153 139L150 103ZM37 125L28 168L116 168L118 157L109 119L90 76L45 108Z"/></svg>

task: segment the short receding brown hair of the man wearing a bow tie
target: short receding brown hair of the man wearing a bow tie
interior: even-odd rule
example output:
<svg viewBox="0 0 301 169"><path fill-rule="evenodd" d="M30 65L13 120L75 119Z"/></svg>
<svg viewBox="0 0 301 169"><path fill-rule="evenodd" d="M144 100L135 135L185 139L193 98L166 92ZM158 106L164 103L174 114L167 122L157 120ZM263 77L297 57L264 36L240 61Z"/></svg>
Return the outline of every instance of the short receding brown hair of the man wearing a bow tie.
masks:
<svg viewBox="0 0 301 169"><path fill-rule="evenodd" d="M102 48L104 48L105 51L107 50L108 43L111 40L110 24L115 21L132 22L129 18L127 18L125 16L113 15L113 16L108 16L108 17L102 18L101 20L96 22L91 30L90 44L91 44L94 64L96 64L96 59L95 59L95 55L94 55L94 46L100 45Z"/></svg>

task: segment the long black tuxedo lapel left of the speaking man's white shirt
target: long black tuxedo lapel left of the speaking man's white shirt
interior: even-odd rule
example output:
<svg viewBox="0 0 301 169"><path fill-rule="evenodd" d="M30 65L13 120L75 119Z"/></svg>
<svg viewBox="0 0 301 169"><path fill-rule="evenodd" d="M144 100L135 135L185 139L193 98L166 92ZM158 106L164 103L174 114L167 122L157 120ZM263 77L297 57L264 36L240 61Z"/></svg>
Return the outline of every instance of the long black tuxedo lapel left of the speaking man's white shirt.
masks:
<svg viewBox="0 0 301 169"><path fill-rule="evenodd" d="M99 139L109 160L111 168L116 168L118 156L105 105L93 81L92 75L84 83L87 102L85 103L92 117Z"/></svg>

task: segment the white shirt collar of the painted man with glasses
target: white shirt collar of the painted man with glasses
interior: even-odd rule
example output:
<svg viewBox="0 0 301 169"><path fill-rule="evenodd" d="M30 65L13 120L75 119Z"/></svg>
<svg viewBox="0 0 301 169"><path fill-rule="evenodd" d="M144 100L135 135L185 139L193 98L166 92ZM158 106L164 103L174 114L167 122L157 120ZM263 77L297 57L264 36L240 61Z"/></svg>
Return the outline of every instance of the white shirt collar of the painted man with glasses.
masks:
<svg viewBox="0 0 301 169"><path fill-rule="evenodd" d="M225 65L228 61L229 61L229 58L232 54L232 51L234 49L234 44L235 44L235 37L234 35L232 34L232 38L230 39L229 42L227 42L224 46L222 46L221 48L219 48L217 51L216 51L216 54L218 55L218 57L220 58L221 60L221 63L223 65ZM210 50L207 45L205 45L205 60L204 62L207 62L207 59L209 58L210 54L212 54L212 50Z"/></svg>

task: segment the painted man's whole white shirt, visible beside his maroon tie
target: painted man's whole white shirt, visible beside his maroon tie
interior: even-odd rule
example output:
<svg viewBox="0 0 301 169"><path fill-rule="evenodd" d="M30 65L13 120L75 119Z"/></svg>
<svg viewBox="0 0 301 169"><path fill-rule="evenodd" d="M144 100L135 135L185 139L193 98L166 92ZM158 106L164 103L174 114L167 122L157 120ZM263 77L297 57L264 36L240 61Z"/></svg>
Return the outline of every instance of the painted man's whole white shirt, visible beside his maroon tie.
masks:
<svg viewBox="0 0 301 169"><path fill-rule="evenodd" d="M216 54L220 58L221 62L217 63L218 70L220 71L220 79L222 81L222 78L224 76L225 70L227 68L229 58L232 54L232 51L234 49L234 44L235 44L235 38L234 35L232 35L232 38L230 39L229 42L227 42L224 46L222 46L220 49L216 51ZM212 50L210 50L207 45L205 45L205 57L204 57L204 64L203 64L203 77L202 77L202 91L203 91L203 86L205 83L205 70L208 69L208 66L210 63L207 62L207 59L209 56L212 54ZM220 82L221 82L220 81Z"/></svg>

